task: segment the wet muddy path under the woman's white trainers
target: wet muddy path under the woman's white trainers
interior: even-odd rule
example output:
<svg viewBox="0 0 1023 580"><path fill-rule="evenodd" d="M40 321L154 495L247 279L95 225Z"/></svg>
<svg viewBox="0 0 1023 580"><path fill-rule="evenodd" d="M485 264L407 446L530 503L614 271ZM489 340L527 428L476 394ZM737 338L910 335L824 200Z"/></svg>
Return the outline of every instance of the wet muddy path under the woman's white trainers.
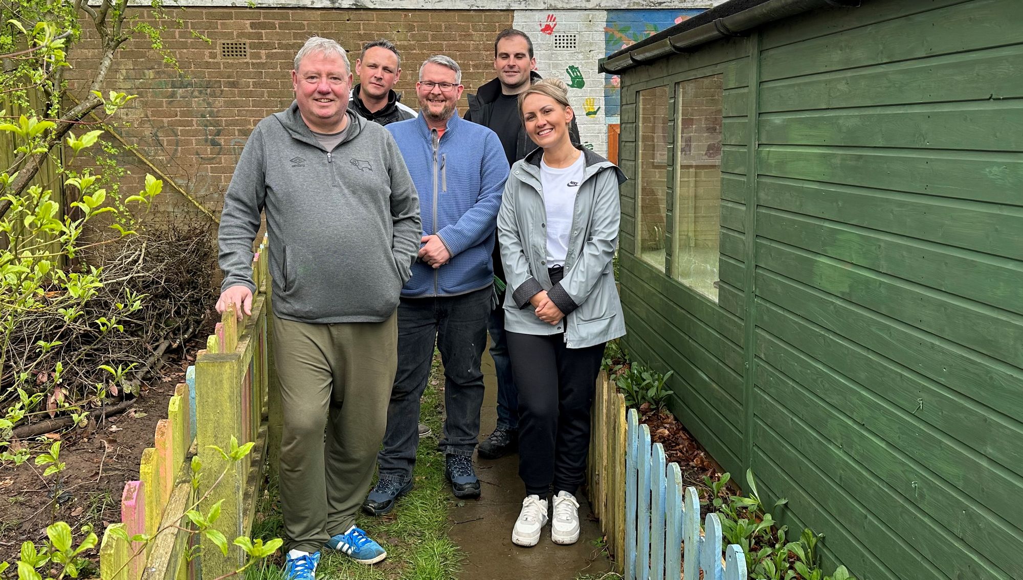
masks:
<svg viewBox="0 0 1023 580"><path fill-rule="evenodd" d="M490 355L484 356L487 386L481 412L481 437L490 434L496 422L497 384ZM601 527L580 492L579 516L582 533L570 546L550 541L549 524L540 543L524 548L511 543L511 527L522 508L525 489L519 479L519 456L496 460L476 459L477 475L483 483L482 497L455 504L449 512L451 539L465 561L459 580L572 580L579 575L601 575L611 570L604 552L595 544Z"/></svg>

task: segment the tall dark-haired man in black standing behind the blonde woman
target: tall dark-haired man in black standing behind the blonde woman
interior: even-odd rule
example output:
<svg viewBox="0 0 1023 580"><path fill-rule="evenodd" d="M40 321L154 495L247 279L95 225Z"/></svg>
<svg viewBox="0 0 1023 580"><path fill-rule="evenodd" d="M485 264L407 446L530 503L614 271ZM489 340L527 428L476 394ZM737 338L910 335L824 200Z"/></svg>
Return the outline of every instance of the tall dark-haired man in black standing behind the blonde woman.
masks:
<svg viewBox="0 0 1023 580"><path fill-rule="evenodd" d="M494 72L497 78L469 95L469 111L464 119L489 127L497 133L504 146L508 165L526 157L536 144L526 135L519 118L519 94L539 80L533 41L526 33L505 29L494 40ZM579 143L579 128L575 119L569 127L573 143ZM494 243L494 275L504 279L500 248ZM501 297L501 294L498 294ZM504 339L504 309L500 304L490 315L490 356L494 359L497 374L497 427L480 443L481 457L496 459L518 449L519 446L519 390L511 378L507 342Z"/></svg>

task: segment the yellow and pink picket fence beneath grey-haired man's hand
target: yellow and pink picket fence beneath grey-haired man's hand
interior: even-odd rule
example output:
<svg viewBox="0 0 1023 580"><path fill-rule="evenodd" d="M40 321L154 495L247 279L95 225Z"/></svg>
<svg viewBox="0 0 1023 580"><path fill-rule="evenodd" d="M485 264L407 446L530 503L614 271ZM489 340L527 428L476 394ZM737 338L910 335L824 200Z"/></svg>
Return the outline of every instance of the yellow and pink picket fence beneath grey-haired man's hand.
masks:
<svg viewBox="0 0 1023 580"><path fill-rule="evenodd" d="M233 305L189 367L186 383L177 386L168 418L157 423L154 446L142 453L139 480L125 484L121 523L109 526L100 544L102 580L195 580L216 578L243 564L243 552L231 546L228 555L206 539L189 533L184 512L195 507L207 512L217 501L220 518L214 528L228 543L249 535L259 498L262 467L267 451L267 408L270 375L267 312L270 308L269 276L265 257L266 238L253 260L257 293L252 315L238 322ZM227 470L211 489L226 463L210 446L230 448L254 442L252 452L233 470ZM191 486L191 458L198 455L202 478L197 490ZM148 547L125 541L115 532L155 536ZM202 549L193 549L196 543ZM188 553L202 556L189 559Z"/></svg>

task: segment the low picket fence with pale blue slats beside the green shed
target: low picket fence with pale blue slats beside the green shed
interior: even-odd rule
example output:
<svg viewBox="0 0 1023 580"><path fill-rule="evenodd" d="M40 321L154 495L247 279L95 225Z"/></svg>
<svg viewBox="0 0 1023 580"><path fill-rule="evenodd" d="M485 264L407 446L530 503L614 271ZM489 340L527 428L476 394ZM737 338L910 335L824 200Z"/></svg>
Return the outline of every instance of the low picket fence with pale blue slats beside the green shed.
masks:
<svg viewBox="0 0 1023 580"><path fill-rule="evenodd" d="M701 528L700 496L682 486L677 463L652 443L635 409L602 373L590 439L590 505L601 519L615 567L626 580L747 580L746 556L722 551L721 523L708 514Z"/></svg>

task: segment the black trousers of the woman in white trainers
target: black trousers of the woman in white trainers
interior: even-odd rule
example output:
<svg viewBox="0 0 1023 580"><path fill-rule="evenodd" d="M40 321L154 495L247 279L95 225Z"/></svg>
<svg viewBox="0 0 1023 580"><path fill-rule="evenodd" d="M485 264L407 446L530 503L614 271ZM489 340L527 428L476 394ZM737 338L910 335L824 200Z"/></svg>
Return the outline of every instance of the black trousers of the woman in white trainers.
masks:
<svg viewBox="0 0 1023 580"><path fill-rule="evenodd" d="M563 333L506 332L519 387L519 477L527 495L575 495L586 473L589 408L604 344L565 346Z"/></svg>

